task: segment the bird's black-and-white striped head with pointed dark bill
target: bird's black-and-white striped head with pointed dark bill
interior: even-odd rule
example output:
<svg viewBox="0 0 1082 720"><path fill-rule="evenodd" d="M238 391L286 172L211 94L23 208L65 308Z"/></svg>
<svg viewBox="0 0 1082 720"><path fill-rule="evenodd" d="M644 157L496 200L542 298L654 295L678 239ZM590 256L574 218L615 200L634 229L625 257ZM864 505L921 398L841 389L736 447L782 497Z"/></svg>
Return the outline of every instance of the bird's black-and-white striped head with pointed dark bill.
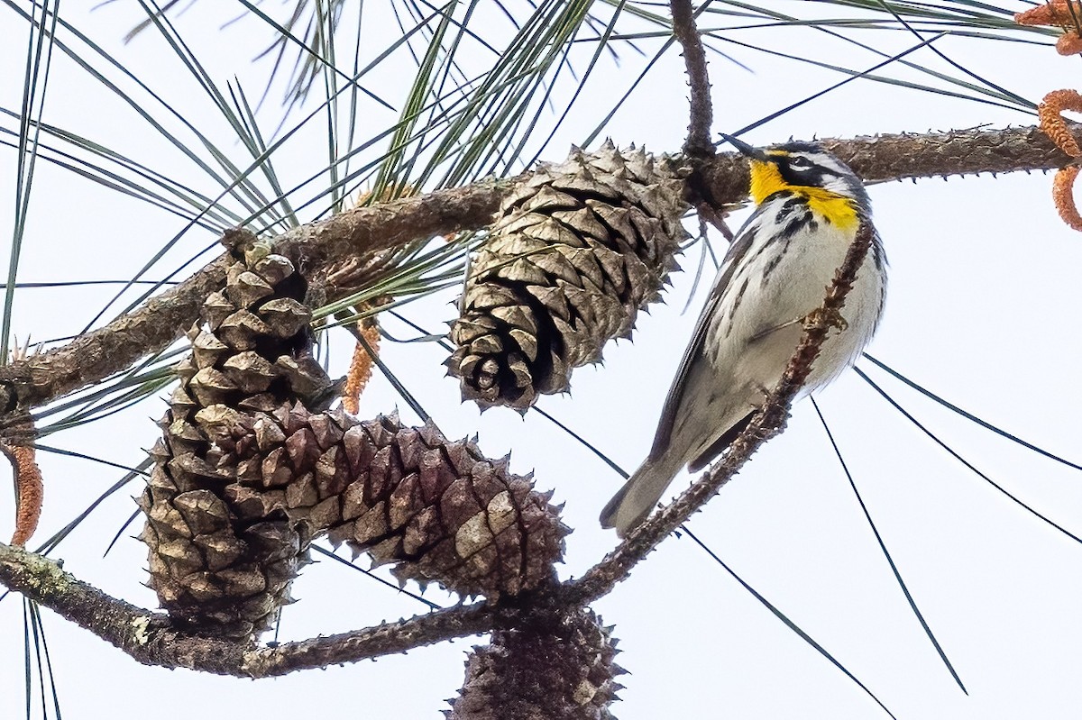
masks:
<svg viewBox="0 0 1082 720"><path fill-rule="evenodd" d="M751 160L751 196L755 204L784 190L821 188L849 198L870 212L863 182L817 143L793 142L760 149L729 135L724 137Z"/></svg>

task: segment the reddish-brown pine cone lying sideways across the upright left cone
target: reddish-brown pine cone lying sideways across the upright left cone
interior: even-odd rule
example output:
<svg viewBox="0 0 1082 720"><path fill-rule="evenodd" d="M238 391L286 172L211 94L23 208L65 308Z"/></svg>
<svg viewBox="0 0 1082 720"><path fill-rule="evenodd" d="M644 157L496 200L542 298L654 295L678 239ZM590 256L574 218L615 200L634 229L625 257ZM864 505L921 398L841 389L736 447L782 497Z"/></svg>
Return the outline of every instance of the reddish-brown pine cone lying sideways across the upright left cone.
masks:
<svg viewBox="0 0 1082 720"><path fill-rule="evenodd" d="M280 489L291 519L378 564L395 563L403 581L494 599L549 582L563 555L567 529L551 494L509 474L505 458L489 461L475 443L450 442L431 424L282 405L223 443L250 454L235 452L237 485L227 495ZM265 509L252 507L255 517Z"/></svg>

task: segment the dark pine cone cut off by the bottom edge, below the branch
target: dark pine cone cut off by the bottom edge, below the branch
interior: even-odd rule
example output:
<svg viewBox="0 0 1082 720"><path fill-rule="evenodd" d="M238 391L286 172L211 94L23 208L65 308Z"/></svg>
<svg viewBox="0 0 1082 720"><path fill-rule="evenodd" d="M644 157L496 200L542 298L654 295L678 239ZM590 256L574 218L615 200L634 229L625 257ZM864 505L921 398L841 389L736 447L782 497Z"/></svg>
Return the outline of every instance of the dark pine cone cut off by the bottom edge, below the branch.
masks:
<svg viewBox="0 0 1082 720"><path fill-rule="evenodd" d="M497 630L466 662L448 720L608 720L624 672L616 641L589 610L551 624Z"/></svg>

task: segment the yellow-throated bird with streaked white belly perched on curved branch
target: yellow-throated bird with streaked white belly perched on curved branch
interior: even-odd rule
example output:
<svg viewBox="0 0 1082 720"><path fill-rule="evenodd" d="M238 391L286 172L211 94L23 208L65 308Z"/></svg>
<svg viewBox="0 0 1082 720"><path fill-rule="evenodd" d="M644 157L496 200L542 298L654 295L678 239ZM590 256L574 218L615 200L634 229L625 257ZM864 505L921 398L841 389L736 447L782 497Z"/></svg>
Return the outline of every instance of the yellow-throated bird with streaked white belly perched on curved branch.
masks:
<svg viewBox="0 0 1082 720"><path fill-rule="evenodd" d="M718 267L649 454L602 511L602 526L620 537L684 466L707 467L763 406L862 227L871 230L868 254L797 399L853 364L883 314L886 255L856 173L818 143L756 148L723 137L749 160L755 210Z"/></svg>

